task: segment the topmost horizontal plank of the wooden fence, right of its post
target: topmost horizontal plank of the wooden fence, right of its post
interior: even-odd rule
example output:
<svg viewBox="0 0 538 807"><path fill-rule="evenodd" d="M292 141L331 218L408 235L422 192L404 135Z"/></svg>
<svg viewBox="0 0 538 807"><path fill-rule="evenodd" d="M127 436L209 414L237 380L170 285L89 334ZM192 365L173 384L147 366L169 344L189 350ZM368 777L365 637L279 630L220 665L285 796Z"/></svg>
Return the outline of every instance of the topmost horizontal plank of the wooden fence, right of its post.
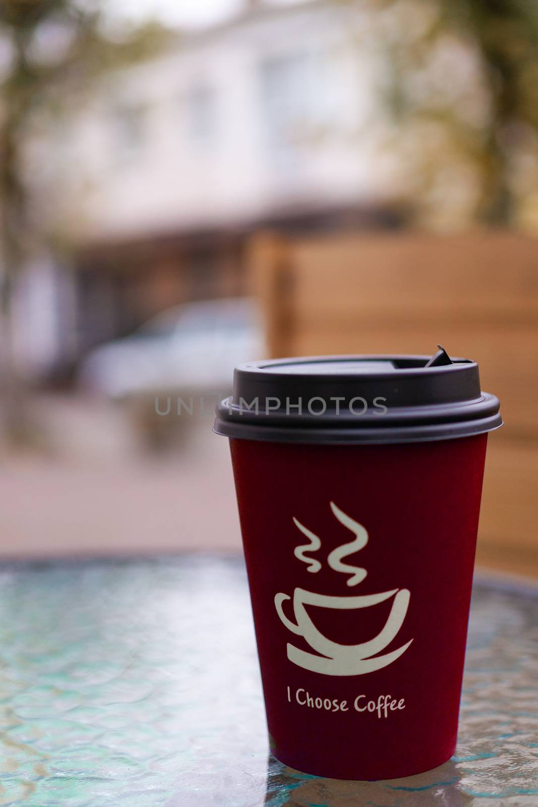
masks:
<svg viewBox="0 0 538 807"><path fill-rule="evenodd" d="M300 315L521 321L538 314L538 240L469 236L332 236L290 244Z"/></svg>

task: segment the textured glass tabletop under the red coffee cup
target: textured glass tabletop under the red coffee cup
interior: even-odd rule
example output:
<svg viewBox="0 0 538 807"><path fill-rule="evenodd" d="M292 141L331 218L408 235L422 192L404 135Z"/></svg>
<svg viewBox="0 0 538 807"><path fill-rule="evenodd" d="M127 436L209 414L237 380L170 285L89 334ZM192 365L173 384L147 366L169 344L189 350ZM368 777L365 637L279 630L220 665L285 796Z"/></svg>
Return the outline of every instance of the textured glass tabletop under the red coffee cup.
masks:
<svg viewBox="0 0 538 807"><path fill-rule="evenodd" d="M457 754L337 782L268 760L242 562L0 572L0 805L538 805L538 599L475 587Z"/></svg>

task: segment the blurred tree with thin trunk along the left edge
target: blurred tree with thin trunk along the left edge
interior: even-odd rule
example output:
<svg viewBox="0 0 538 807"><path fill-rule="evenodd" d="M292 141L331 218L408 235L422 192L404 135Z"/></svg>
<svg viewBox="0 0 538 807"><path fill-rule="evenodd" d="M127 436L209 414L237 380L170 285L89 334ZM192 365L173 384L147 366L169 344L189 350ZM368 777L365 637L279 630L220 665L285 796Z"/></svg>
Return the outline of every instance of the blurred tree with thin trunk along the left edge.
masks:
<svg viewBox="0 0 538 807"><path fill-rule="evenodd" d="M103 73L158 52L169 36L154 23L119 36L98 0L0 0L0 388L11 440L27 436L12 350L15 279L51 237L32 216L23 165L31 121L73 109Z"/></svg>

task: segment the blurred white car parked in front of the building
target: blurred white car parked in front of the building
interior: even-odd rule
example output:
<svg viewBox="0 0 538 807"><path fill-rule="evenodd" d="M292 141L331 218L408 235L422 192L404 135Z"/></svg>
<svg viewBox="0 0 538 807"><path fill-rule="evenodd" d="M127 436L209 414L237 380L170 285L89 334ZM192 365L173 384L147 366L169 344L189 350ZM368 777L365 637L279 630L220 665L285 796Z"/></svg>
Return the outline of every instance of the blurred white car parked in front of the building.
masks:
<svg viewBox="0 0 538 807"><path fill-rule="evenodd" d="M252 299L169 308L129 337L94 349L81 363L86 390L111 399L189 391L226 394L233 368L265 355Z"/></svg>

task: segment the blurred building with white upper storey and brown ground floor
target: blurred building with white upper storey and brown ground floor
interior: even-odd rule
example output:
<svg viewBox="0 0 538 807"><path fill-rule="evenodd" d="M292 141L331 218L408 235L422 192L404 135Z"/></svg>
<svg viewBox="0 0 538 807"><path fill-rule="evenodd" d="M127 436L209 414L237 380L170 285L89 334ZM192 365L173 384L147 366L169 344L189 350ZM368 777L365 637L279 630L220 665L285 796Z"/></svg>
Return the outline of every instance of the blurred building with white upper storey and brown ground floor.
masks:
<svg viewBox="0 0 538 807"><path fill-rule="evenodd" d="M74 358L186 299L244 292L260 228L386 226L379 54L362 4L250 3L106 78L62 133Z"/></svg>

